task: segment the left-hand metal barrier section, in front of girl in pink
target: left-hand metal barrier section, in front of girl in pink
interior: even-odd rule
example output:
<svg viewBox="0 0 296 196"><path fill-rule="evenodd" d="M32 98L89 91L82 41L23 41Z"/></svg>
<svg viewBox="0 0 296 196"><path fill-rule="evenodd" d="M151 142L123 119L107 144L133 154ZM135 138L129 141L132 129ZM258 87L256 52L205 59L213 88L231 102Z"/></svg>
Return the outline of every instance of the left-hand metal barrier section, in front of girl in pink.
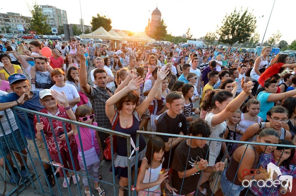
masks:
<svg viewBox="0 0 296 196"><path fill-rule="evenodd" d="M15 120L17 122L17 125L20 129L20 132L21 132L21 135L22 135L22 140L24 141L24 143L26 144L26 150L27 150L27 154L23 154L21 152L21 150L23 149L20 149L19 148L19 145L17 145L18 147L18 150L12 150L9 148L9 153L11 154L11 157L12 157L12 161L13 161L13 164L16 166L17 170L18 170L18 173L20 173L20 168L18 166L18 163L17 163L17 159L16 157L14 156L14 153L16 154L19 154L22 158L22 161L24 163L26 163L25 159L27 159L27 164L28 163L31 163L32 165L32 169L28 169L28 166L27 164L25 164L25 168L26 168L26 171L28 172L29 174L29 177L28 178L22 178L21 175L20 175L20 180L19 180L19 183L16 185L16 184L12 184L9 182L9 180L7 180L7 177L6 177L6 169L5 169L5 165L8 166L8 169L9 169L9 172L11 174L14 174L13 170L12 170L12 167L10 166L9 164L9 161L8 159L6 159L6 156L5 156L5 153L3 151L2 148L0 148L0 152L1 152L1 155L2 157L4 157L4 174L3 176L1 175L0 177L0 181L4 182L4 190L3 190L3 195L15 195L15 194L19 194L20 192L22 192L23 190L25 189L29 189L33 192L36 192L36 193L39 193L39 194L42 194L42 195L62 195L62 194L67 194L67 195L77 195L77 193L79 193L80 195L84 195L84 188L81 188L83 186L83 183L82 183L82 178L80 180L80 183L77 183L76 185L76 188L74 188L73 186L69 186L68 184L68 181L66 180L67 182L67 185L68 185L68 192L65 193L65 189L66 188L61 188L60 185L61 183L59 183L59 180L58 178L56 177L56 175L54 175L54 179L55 179L55 186L54 187L50 187L50 186L47 186L49 185L49 182L48 182L48 179L46 177L46 172L45 172L45 169L43 167L43 163L47 163L47 162L44 162L41 160L41 157L40 157L40 154L38 152L38 148L37 148L37 145L36 145L36 142L35 140L33 139L33 143L34 143L34 148L37 149L37 157L34 157L34 154L32 153L32 149L29 149L28 148L28 144L27 144L27 141L26 141L26 138L24 137L23 135L23 130L22 130L22 127L20 126L19 124L19 119L18 119L18 116L16 114L16 110L18 111L23 111L24 112L24 115L25 115L25 118L26 118L26 121L27 121L27 124L29 125L28 126L28 129L31 133L31 137L32 138L35 138L35 130L32 130L31 129L31 126L30 126L30 120L28 118L28 115L36 115L37 116L37 119L38 119L38 122L40 122L39 120L39 116L43 116L43 117L47 117L50 119L50 127L51 127L51 131L54 133L54 129L53 129L53 125L52 125L52 122L51 120L59 120L63 123L63 128L64 128L64 131L66 130L66 127L65 127L65 123L70 123L70 124L73 124L73 125L76 125L77 126L77 131L78 131L78 135L79 135L79 141L80 141L80 144L81 144L81 137L80 137L80 129L79 129L79 126L81 127L86 127L86 128L90 128L90 129L94 129L98 132L101 132L101 133L107 133L110 135L110 138L111 138L111 155L113 157L114 155L114 152L113 152L113 140L112 138L115 137L115 136L118 136L118 137L123 137L126 139L126 142L127 142L127 146L118 146L118 147L121 147L121 148L127 148L127 155L128 157L130 156L130 153L131 153L131 149L130 149L130 146L131 146L131 143L130 143L130 135L129 134L125 134L125 133L120 133L120 132L116 132L116 131L112 131L112 130L109 130L109 129L104 129L104 128L101 128L101 127L95 127L95 126L92 126L92 125L86 125L84 123L80 123L78 121L72 121L72 120L68 120L68 119L65 119L65 118L61 118L61 117L57 117L57 116L52 116L52 115L48 115L48 114L45 114L45 113L41 113L41 112L36 112L36 111L33 111L33 110L29 110L29 109L25 109L25 108L20 108L20 107L13 107L11 108L13 113L14 113L14 116L15 116ZM10 126L10 130L12 130L12 127L11 127L11 124L10 124L10 120L8 118L8 115L7 115L7 112L5 111L5 116L6 118L8 119L8 123L9 123L9 126ZM3 126L2 124L0 123L0 129L4 135L4 139L6 141L6 143L8 143L8 139L4 133L4 129L3 129ZM14 138L14 142L17 141L18 138L16 138L16 135L14 133L14 131L12 130L12 135L13 135L13 138ZM65 131L66 133L66 131ZM54 136L54 141L55 141L55 145L57 147L57 151L58 151L58 156L60 158L60 162L57 161L57 163L47 163L47 164L50 164L50 167L52 169L53 172L55 172L55 168L54 168L54 165L55 166L58 166L58 165L64 165L64 164L67 164L67 163L63 163L62 161L62 158L61 158L61 154L60 154L60 149L59 149L59 146L57 144L57 138L55 137L55 134L53 134ZM45 143L45 146L46 146L46 142L45 142L45 137L44 137L44 134L42 133L42 137L43 137L43 141ZM68 137L66 137L66 141L67 141L67 145L68 145L68 149L69 149L69 154L70 154L70 158L71 158L71 162L73 162L73 157L72 157L72 152L71 152L71 148L70 148L70 145L69 145L69 139ZM84 157L84 150L83 150L83 146L81 146L81 152L82 152L82 155ZM50 157L50 153L48 151L48 148L46 148L46 152L47 152L47 155L48 157ZM103 152L101 152L103 153ZM50 159L51 160L51 159ZM112 161L112 170L114 171L114 161L113 159L111 160ZM83 160L84 162L84 165L86 165L85 163L85 160ZM38 164L40 164L41 168L40 169L37 169L39 168L39 166L37 166ZM71 163L69 163L71 164ZM128 187L125 188L126 191L128 191L128 194L131 195L131 184L132 184L132 178L131 178L131 167L130 167L130 160L128 160ZM63 169L63 173L64 173L64 176L66 176L66 171L68 172L72 172L75 174L75 178L76 178L76 181L77 181L77 175L80 175L81 177L82 176L86 176L87 179L88 179L88 184L90 185L90 194L92 195L93 191L91 189L91 183L90 183L90 180L94 180L94 178L88 174L87 170L86 170L86 175L83 174L81 171L77 171L75 169L75 165L73 164L73 170L71 169L66 169L62 166L62 169ZM43 176L45 176L45 183L43 183ZM16 179L14 179L16 181ZM98 179L97 179L98 180ZM119 188L119 185L118 185L118 180L115 178L115 174L114 172L112 173L112 179L109 180L111 182L108 182L108 181L104 181L104 180L99 180L100 182L100 186L103 186L102 188L103 189L106 189L106 188L110 188L110 191L113 189L113 195L117 195L117 191L118 188ZM11 185L15 185L16 187L13 188L12 190L10 190L9 193L6 193L6 185L8 184L11 184ZM46 185L45 185L46 184ZM107 187L109 186L109 187ZM104 188L106 187L106 188ZM72 190L74 189L74 191ZM76 190L76 191L75 191ZM111 191L112 192L112 191ZM107 195L107 194L106 194ZM108 195L112 195L112 194L108 194Z"/></svg>

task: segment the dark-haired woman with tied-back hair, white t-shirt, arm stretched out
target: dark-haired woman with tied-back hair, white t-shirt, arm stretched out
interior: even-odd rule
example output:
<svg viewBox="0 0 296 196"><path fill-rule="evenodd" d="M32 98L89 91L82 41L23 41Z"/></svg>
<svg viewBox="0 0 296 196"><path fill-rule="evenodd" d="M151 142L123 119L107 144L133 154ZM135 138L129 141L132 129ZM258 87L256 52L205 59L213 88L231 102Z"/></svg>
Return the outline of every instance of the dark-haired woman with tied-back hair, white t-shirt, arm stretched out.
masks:
<svg viewBox="0 0 296 196"><path fill-rule="evenodd" d="M213 139L224 139L223 133L226 130L227 120L246 100L247 96L252 92L253 82L245 83L245 80L242 78L241 87L243 91L235 98L232 98L232 93L227 90L215 89L208 94L206 94L202 109L204 111L209 111L205 117L205 121L211 128L210 138ZM210 142L207 141L209 145L209 166L215 165L215 161L220 153L221 147L222 151L226 151L225 142L217 141ZM214 170L213 170L214 171ZM200 179L200 185L208 181L211 173L204 173ZM199 190L206 194L206 191L201 186Z"/></svg>

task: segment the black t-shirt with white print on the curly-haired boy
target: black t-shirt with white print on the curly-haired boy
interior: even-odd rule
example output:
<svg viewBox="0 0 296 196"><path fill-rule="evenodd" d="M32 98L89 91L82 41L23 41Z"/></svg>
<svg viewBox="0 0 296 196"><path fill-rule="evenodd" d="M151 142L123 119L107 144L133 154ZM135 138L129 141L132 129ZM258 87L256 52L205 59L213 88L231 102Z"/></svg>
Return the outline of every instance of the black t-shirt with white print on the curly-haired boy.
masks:
<svg viewBox="0 0 296 196"><path fill-rule="evenodd" d="M183 178L179 178L178 171L183 172L185 171L185 168L192 169L195 166L195 162L197 161L198 163L201 159L209 161L209 153L207 153L209 146L207 144L204 146L204 148L190 148L188 156L189 146L187 145L186 141L187 140L182 141L175 149L174 159L172 163L172 186L178 190L176 191L176 193L179 195L192 193L196 190L201 172L196 172L191 176L184 178L183 182Z"/></svg>

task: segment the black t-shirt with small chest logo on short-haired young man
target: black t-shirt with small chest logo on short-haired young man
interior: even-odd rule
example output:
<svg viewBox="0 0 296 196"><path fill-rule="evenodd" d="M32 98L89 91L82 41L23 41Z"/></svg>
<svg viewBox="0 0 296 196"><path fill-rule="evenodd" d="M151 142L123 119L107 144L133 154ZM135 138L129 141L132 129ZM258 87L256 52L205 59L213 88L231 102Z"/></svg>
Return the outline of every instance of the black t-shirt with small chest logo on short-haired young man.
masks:
<svg viewBox="0 0 296 196"><path fill-rule="evenodd" d="M187 121L183 113L177 115L175 118L171 118L169 115L167 115L167 112L159 116L157 120L156 132L179 135L181 131L183 132L184 135L188 135ZM169 141L168 136L160 135L159 137L161 137L164 142ZM175 146L174 148L172 148L167 152L164 152L164 155L163 155L164 161L162 163L162 168L167 169L171 167L171 163L173 160L176 147L177 146ZM171 154L171 157L170 157L170 154Z"/></svg>

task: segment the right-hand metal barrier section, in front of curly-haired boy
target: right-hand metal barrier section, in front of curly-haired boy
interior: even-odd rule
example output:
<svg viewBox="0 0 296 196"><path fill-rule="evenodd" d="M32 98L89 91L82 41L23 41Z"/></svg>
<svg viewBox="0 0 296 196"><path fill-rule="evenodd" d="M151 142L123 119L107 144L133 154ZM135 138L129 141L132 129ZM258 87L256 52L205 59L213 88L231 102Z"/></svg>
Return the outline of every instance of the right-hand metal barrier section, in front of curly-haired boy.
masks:
<svg viewBox="0 0 296 196"><path fill-rule="evenodd" d="M158 132L146 132L146 131L137 131L137 142L136 142L136 146L139 146L139 138L140 138L140 134L142 134L142 133L150 133L150 134L153 135L152 137L156 137L156 136L168 136L168 137L183 137L184 139L191 139L191 138L192 138L192 139L201 139L201 140L207 140L207 141L210 141L210 142L217 142L217 141L219 141L219 142L228 142L228 145L227 145L226 149L228 149L228 146L229 146L231 143L246 144L247 146L250 145L250 144L253 144L253 145L264 145L264 146L265 146L265 149L267 148L266 143L246 142L246 141L233 141L233 140L224 140L224 139L212 139L212 138L205 138L205 137L194 137L194 136L175 135L175 134L158 133ZM293 148L295 148L295 146L292 146L292 145L279 145L279 144L268 144L268 146L281 146L281 147L293 147ZM189 151L188 151L188 155L187 155L187 161L186 161L186 163L187 163L188 161L190 161L190 160L189 160L190 148L191 148L191 144L190 144L190 146L189 146ZM246 149L247 149L247 147L246 147ZM170 162L170 159L171 159L171 157L172 157L171 150L172 150L172 142L171 142L171 149L170 149L170 151L169 151L169 152L170 152L169 162ZM282 151L282 154L283 154L283 152L284 152L284 151ZM227 150L226 150L226 152L223 154L222 161L225 160L226 153L228 153ZM243 160L243 157L245 156L245 153L246 153L246 150L245 150L245 152L243 153L243 156L242 156L241 160ZM208 155L209 155L209 148L208 148L208 150L207 150L207 155L206 155L206 156L208 156ZM282 156L282 155L281 155L281 156ZM152 156L151 156L151 159L152 159ZM149 160L148 160L148 161L149 161ZM137 163L137 162L138 162L138 151L136 151L136 163ZM228 163L229 163L229 161L228 161ZM238 169L239 169L240 165L241 165L241 161L239 162L239 166L238 166L238 168L237 168L237 170L236 170L236 174L235 174L235 176L234 176L234 179L235 179L236 176L237 176ZM257 164L257 168L256 168L256 169L259 168L259 165L260 165L260 162ZM277 165L277 163L276 163L276 165ZM165 166L167 166L167 165L165 165ZM296 163L295 163L295 165L294 165L294 167L293 167L293 170L295 169L295 167L296 167ZM226 168L227 168L227 166L225 165L225 169L226 169ZM186 169L187 169L187 164L186 164L186 166L185 166L185 171L186 171ZM189 169L191 169L191 168L189 168ZM292 173L292 171L291 171L291 173ZM291 175L291 173L290 173L290 175ZM200 174L200 178L199 178L199 179L202 178L202 175L203 175L203 174L204 174L204 172L202 171L201 174ZM219 171L219 174L218 174L218 175L221 175L221 174L222 174L222 172ZM150 174L150 176L151 176L151 174ZM182 190L182 188L183 188L184 177L185 177L185 173L184 173L184 176L183 176L183 182L182 182L182 185L181 185L181 190ZM253 176L253 178L254 178L254 177L255 177L255 175ZM253 180L253 178L252 178L252 180ZM134 187L137 186L136 183L137 183L137 169L135 169ZM218 186L219 183L220 183L220 182L218 182L218 178L216 178L216 181L214 182L214 188L213 188L213 189L215 189L216 186ZM232 182L232 186L233 186L233 184L234 184L234 180L233 180L233 182ZM197 188L196 188L196 189L198 189L199 186L200 186L200 181L198 182L198 185L197 185ZM229 187L229 188L231 189L232 186ZM245 196L246 196L246 195L248 194L248 192L250 191L250 190L249 190L249 187L246 188L246 189L247 189L247 190L246 190ZM179 191L181 192L181 190L179 190ZM264 190L264 191L265 191L265 190ZM149 191L149 192L154 193L153 191ZM212 191L211 191L211 192L212 192ZM294 192L294 191L293 191L293 192ZM168 195L173 195L173 194L165 193L164 195L167 195L167 196L168 196ZM197 195L201 195L201 194L198 194L198 191L195 190L194 195L197 196ZM208 194L208 195L210 195L210 194ZM214 193L212 192L211 195L214 195ZM265 194L264 194L264 195L265 195ZM282 194L279 194L279 195L282 195ZM136 196L135 191L134 191L134 196Z"/></svg>

